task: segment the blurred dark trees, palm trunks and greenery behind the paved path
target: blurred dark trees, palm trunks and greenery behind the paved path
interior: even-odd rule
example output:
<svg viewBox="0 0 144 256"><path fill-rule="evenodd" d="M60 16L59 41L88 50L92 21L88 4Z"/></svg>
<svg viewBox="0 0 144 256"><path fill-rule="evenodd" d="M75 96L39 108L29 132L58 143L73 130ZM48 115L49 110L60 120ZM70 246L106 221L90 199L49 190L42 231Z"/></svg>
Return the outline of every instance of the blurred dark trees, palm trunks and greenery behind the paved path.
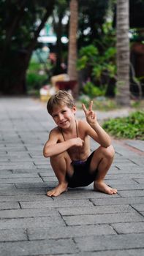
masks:
<svg viewBox="0 0 144 256"><path fill-rule="evenodd" d="M139 105L143 14L143 0L1 0L0 94Z"/></svg>

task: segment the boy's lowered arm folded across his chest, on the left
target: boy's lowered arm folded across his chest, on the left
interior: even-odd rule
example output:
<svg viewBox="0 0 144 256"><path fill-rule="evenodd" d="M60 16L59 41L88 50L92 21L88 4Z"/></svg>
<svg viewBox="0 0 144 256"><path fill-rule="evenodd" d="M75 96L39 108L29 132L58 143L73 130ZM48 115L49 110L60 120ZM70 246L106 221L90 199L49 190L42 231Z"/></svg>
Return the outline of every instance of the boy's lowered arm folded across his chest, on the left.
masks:
<svg viewBox="0 0 144 256"><path fill-rule="evenodd" d="M52 130L43 148L44 157L53 157L57 154L61 154L72 146L83 146L83 140L80 138L72 138L60 143L58 143L58 140L58 133Z"/></svg>

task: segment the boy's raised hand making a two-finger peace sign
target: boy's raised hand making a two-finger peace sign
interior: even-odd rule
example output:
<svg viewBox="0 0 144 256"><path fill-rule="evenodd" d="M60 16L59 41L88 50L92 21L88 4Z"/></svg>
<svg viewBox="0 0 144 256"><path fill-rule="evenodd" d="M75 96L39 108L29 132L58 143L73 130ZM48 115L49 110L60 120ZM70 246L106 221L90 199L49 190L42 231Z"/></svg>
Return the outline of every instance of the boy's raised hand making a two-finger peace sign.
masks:
<svg viewBox="0 0 144 256"><path fill-rule="evenodd" d="M86 121L88 122L88 124L96 124L96 114L92 110L93 101L90 102L88 110L86 109L86 106L84 104L82 104L82 107L83 111L85 112Z"/></svg>

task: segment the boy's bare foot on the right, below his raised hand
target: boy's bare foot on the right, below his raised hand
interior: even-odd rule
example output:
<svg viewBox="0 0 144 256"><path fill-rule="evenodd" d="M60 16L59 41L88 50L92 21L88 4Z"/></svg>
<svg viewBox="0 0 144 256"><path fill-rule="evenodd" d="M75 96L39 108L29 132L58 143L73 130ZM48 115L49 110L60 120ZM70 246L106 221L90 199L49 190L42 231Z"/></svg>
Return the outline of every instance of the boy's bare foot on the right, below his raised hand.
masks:
<svg viewBox="0 0 144 256"><path fill-rule="evenodd" d="M94 182L94 190L99 190L104 192L105 194L113 195L117 193L117 189L113 189L112 187L107 186L104 181Z"/></svg>

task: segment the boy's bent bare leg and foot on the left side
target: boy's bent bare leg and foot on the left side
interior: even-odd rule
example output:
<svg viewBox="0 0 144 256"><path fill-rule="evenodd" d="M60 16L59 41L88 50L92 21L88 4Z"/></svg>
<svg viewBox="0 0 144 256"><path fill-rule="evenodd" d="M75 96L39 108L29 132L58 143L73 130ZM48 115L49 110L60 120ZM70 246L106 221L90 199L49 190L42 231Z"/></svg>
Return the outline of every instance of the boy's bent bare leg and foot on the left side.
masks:
<svg viewBox="0 0 144 256"><path fill-rule="evenodd" d="M61 195L61 193L67 191L67 181L65 180L66 172L69 170L69 172L72 172L72 165L71 159L69 157L69 154L67 152L58 154L54 157L50 158L51 166L53 167L53 170L56 174L56 177L58 178L58 186L56 186L54 189L47 192L47 195L49 197L56 197L58 195Z"/></svg>

